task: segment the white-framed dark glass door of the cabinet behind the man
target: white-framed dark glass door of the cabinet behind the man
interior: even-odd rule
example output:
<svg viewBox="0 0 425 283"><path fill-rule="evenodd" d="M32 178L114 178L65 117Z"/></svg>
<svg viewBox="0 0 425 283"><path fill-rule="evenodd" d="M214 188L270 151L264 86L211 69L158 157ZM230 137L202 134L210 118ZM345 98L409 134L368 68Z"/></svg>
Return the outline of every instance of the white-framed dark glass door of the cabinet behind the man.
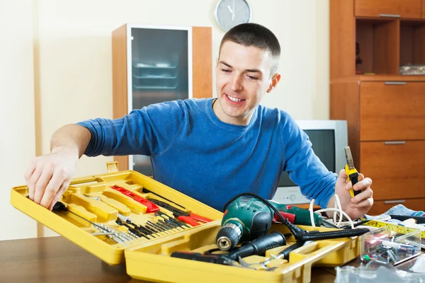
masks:
<svg viewBox="0 0 425 283"><path fill-rule="evenodd" d="M132 26L130 33L132 96L129 110L192 98L191 29ZM153 175L149 156L132 156L130 166L131 163L133 170Z"/></svg>

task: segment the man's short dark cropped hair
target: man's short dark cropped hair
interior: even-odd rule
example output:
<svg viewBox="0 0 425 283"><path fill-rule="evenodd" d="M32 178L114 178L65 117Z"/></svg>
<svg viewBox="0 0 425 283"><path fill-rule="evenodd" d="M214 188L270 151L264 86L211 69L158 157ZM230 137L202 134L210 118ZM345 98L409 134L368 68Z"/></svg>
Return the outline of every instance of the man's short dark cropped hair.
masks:
<svg viewBox="0 0 425 283"><path fill-rule="evenodd" d="M278 69L278 61L280 58L279 40L268 28L258 23L242 23L236 25L225 33L220 43L220 52L222 45L226 41L232 41L246 47L254 46L261 50L270 52L273 61L271 67L271 75L275 74ZM219 57L220 57L219 52Z"/></svg>

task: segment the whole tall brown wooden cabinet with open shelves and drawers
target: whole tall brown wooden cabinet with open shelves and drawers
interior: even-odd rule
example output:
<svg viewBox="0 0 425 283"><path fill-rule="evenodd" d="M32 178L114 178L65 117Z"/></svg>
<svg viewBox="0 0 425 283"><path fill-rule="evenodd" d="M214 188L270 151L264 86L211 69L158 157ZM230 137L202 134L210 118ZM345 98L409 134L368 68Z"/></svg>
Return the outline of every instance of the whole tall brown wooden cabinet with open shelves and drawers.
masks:
<svg viewBox="0 0 425 283"><path fill-rule="evenodd" d="M330 0L330 118L347 120L358 171L381 214L425 210L425 0ZM424 16L422 15L424 14Z"/></svg>

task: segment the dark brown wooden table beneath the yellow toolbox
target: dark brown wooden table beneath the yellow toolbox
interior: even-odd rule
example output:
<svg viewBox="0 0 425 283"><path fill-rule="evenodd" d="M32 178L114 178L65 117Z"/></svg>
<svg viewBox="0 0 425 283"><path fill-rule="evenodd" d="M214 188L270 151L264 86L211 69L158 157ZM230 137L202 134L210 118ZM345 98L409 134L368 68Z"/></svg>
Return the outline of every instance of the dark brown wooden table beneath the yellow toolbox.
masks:
<svg viewBox="0 0 425 283"><path fill-rule="evenodd" d="M312 282L334 282L333 268L313 268ZM110 266L62 237L0 241L0 282L132 282L125 265Z"/></svg>

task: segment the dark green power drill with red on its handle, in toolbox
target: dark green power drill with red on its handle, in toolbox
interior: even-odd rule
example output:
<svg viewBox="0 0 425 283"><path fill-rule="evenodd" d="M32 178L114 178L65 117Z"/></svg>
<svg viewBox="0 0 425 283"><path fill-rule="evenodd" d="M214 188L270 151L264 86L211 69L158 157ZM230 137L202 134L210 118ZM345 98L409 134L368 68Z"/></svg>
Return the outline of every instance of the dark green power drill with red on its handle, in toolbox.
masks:
<svg viewBox="0 0 425 283"><path fill-rule="evenodd" d="M270 202L280 214L293 224L311 225L307 209ZM242 196L227 204L222 227L217 233L216 243L220 250L231 250L239 241L252 241L265 235L273 219L277 217L268 205L256 197ZM276 218L278 219L278 218ZM322 225L322 216L314 214L314 224Z"/></svg>

